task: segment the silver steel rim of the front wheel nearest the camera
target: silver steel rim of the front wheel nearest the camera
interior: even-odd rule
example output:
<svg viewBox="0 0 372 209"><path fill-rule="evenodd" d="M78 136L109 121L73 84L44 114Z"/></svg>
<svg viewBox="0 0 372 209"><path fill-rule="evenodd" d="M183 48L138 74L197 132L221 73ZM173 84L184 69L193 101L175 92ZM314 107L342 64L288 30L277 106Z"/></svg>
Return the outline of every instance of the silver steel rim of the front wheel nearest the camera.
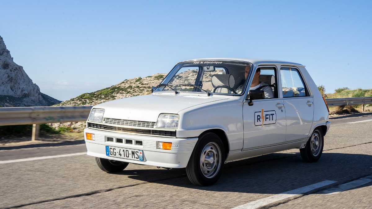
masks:
<svg viewBox="0 0 372 209"><path fill-rule="evenodd" d="M200 155L200 168L207 178L213 178L221 167L221 150L215 142L209 142Z"/></svg>

